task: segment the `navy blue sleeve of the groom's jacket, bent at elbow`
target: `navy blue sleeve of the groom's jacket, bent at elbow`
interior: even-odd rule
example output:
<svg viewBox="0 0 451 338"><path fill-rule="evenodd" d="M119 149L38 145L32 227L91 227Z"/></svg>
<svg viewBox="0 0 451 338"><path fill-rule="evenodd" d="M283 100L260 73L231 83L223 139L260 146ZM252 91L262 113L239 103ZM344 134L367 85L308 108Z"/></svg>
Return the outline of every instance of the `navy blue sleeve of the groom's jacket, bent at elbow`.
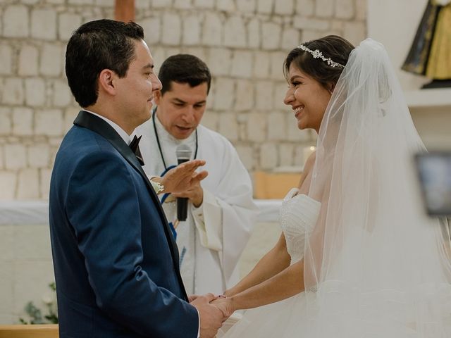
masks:
<svg viewBox="0 0 451 338"><path fill-rule="evenodd" d="M97 305L147 337L197 337L194 306L156 285L142 269L142 220L133 170L99 151L80 161L66 199ZM151 197L149 196L149 199Z"/></svg>

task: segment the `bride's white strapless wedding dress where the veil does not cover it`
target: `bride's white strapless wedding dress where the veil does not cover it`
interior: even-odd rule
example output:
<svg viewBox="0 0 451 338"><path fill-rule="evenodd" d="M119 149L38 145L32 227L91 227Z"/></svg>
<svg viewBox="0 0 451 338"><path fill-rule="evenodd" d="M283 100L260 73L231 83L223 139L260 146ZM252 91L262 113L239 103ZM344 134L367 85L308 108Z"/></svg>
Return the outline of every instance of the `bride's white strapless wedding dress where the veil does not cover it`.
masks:
<svg viewBox="0 0 451 338"><path fill-rule="evenodd" d="M291 264L304 256L305 235L313 230L321 206L319 201L297 192L298 189L291 189L280 207L280 227ZM219 334L218 337L300 337L299 319L304 312L305 294L302 292L277 303L247 310L226 335Z"/></svg>

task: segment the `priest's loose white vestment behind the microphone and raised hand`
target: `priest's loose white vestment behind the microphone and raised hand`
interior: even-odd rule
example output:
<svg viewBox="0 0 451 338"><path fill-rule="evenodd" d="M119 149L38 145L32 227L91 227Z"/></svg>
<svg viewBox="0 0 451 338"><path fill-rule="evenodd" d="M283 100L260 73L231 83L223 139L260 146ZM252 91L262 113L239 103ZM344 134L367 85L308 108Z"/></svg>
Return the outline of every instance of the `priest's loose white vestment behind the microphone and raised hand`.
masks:
<svg viewBox="0 0 451 338"><path fill-rule="evenodd" d="M142 135L140 151L147 175L160 176L165 170L161 153L168 167L177 164L178 145L190 146L194 158L197 144L196 158L206 161L202 170L209 175L201 182L202 205L195 208L190 203L187 220L176 228L180 273L188 294L221 294L239 280L238 259L257 218L249 173L228 139L202 125L197 127L197 142L196 132L187 139L175 139L156 115L155 121L151 118L134 134ZM171 196L163 209L168 222L174 222L177 208Z"/></svg>

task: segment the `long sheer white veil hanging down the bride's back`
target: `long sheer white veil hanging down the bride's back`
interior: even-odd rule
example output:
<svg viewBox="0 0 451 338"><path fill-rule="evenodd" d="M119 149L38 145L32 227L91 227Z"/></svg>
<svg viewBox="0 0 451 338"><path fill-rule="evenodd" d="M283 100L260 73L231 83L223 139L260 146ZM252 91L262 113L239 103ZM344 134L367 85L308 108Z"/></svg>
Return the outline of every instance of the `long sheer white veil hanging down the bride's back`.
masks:
<svg viewBox="0 0 451 338"><path fill-rule="evenodd" d="M424 215L425 151L382 44L350 54L321 123L309 196L304 337L451 337L450 234Z"/></svg>

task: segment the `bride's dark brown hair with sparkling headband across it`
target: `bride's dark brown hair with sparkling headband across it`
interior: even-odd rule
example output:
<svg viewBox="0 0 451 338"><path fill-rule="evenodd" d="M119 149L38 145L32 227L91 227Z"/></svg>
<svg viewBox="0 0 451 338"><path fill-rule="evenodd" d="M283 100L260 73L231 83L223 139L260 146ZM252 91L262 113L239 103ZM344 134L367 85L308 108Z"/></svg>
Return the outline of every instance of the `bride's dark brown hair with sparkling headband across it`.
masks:
<svg viewBox="0 0 451 338"><path fill-rule="evenodd" d="M328 35L321 37L321 39L311 40L303 44L307 48L315 51L321 51L324 57L331 58L332 61L346 65L347 59L350 57L352 49L355 47L342 37L338 35ZM336 84L338 78L343 70L342 67L332 67L321 58L314 58L308 51L303 51L299 47L292 49L285 58L283 63L283 73L288 78L288 71L290 65L295 65L296 68L302 70L314 80L320 82L323 87L328 88L330 84Z"/></svg>

